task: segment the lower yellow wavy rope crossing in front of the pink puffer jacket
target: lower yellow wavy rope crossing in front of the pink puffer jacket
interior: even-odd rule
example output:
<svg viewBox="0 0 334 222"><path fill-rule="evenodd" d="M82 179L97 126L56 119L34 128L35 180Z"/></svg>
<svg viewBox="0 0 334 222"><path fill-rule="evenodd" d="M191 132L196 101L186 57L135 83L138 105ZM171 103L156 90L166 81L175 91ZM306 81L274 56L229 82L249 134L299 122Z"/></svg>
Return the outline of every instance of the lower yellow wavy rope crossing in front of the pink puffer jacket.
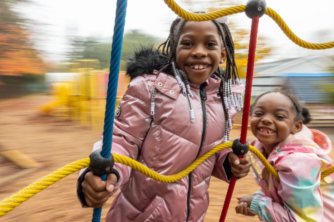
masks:
<svg viewBox="0 0 334 222"><path fill-rule="evenodd" d="M113 154L113 156L114 156L115 162L117 162L117 163L125 164L125 165L143 173L144 175L146 175L146 176L148 176L148 177L150 177L154 180L164 182L164 183L171 183L171 182L175 182L175 181L185 177L186 175L188 175L193 169L195 169L199 164L201 164L204 160L209 158L214 153L216 153L220 150L223 150L223 149L230 148L230 147L232 147L232 142L219 144L219 145L215 146L213 149L211 149L210 151L208 151L207 153L205 153L204 155L202 155L201 157L199 157L198 159L196 159L187 168L185 168L184 170L182 170L182 171L180 171L176 174L173 174L173 175L159 174L159 173L151 170L147 166L144 166L140 162L138 162L134 159L131 159L130 157L126 157L126 156L122 156L122 155L118 155L118 154ZM273 168L272 165L270 165L270 163L262 155L262 153L252 145L249 145L249 150L251 152L253 152L261 160L261 162L268 169L268 171L270 173L272 173L273 176L276 179L279 180L277 171ZM70 164L68 164L64 167L61 167L60 169L58 169L58 170L56 170L52 173L49 173L45 177L43 177L39 180L36 180L32 184L30 184L30 185L26 186L25 188L19 190L18 192L14 193L10 197L5 198L4 200L2 200L0 202L0 217L5 215L7 212L13 210L15 207L21 205L24 201L27 201L30 197L33 197L36 193L39 193L43 189L45 189L45 188L49 187L50 185L54 184L58 180L61 180L62 178L66 177L69 174L72 174L72 173L74 173L74 172L76 172L80 169L88 167L89 163L90 163L89 158L85 158L85 159L81 159L81 160L77 160L75 162L72 162L72 163L70 163ZM321 178L331 174L333 171L334 171L334 166L328 168L327 170L325 170L322 173Z"/></svg>

